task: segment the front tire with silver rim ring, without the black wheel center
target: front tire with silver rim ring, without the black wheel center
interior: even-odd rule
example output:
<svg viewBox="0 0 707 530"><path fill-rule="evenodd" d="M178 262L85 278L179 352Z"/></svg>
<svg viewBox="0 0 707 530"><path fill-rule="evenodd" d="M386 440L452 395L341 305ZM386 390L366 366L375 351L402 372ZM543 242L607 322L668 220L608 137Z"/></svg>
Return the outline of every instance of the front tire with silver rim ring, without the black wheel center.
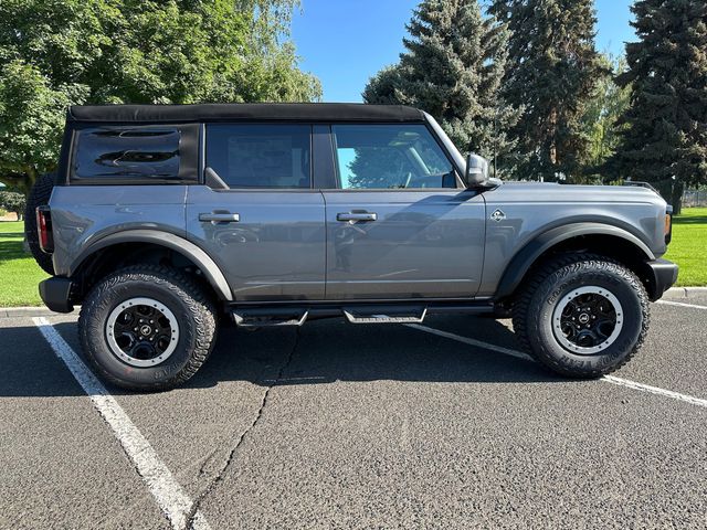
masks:
<svg viewBox="0 0 707 530"><path fill-rule="evenodd" d="M595 287L620 304L620 331L598 352L570 351L568 341L563 344L558 338L561 331L553 329L553 317L560 316L555 310L572 292ZM624 365L643 344L650 319L648 296L636 275L595 254L561 255L538 267L513 310L514 330L525 350L553 372L571 378L599 378Z"/></svg>

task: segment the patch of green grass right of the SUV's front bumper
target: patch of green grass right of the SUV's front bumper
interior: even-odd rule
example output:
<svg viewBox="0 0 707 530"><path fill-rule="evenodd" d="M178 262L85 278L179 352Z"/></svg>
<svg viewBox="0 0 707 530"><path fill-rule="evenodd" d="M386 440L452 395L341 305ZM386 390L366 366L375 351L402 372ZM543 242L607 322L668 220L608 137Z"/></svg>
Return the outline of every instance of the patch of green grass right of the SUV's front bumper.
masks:
<svg viewBox="0 0 707 530"><path fill-rule="evenodd" d="M685 208L673 219L665 258L680 267L677 285L707 285L707 208Z"/></svg>

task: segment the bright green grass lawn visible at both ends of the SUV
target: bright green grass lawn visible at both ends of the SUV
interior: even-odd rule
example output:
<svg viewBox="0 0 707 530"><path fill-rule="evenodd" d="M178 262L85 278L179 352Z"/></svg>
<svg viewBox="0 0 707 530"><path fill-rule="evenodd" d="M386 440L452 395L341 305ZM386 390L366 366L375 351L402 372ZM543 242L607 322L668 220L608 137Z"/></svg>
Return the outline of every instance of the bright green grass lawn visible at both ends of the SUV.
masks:
<svg viewBox="0 0 707 530"><path fill-rule="evenodd" d="M48 275L22 250L22 222L0 222L0 307L42 305L36 284ZM673 220L665 257L680 266L677 285L707 285L707 208L686 208Z"/></svg>

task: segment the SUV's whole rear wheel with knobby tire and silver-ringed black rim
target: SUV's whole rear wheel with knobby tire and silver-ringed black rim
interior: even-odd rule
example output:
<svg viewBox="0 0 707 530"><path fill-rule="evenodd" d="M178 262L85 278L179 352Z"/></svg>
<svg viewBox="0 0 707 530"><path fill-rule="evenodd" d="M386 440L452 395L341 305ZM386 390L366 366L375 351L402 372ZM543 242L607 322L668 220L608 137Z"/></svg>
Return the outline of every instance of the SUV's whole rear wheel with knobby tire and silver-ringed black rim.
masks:
<svg viewBox="0 0 707 530"><path fill-rule="evenodd" d="M191 278L169 267L136 265L92 289L81 308L78 338L105 381L128 390L167 390L205 362L217 320L211 297Z"/></svg>

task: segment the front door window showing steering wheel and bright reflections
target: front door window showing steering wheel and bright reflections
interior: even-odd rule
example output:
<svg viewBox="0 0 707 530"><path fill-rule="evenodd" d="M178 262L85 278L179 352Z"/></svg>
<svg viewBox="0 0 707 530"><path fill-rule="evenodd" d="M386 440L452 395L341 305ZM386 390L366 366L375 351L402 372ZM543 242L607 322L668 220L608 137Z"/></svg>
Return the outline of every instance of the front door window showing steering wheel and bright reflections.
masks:
<svg viewBox="0 0 707 530"><path fill-rule="evenodd" d="M424 125L335 125L333 132L342 189L456 188Z"/></svg>

